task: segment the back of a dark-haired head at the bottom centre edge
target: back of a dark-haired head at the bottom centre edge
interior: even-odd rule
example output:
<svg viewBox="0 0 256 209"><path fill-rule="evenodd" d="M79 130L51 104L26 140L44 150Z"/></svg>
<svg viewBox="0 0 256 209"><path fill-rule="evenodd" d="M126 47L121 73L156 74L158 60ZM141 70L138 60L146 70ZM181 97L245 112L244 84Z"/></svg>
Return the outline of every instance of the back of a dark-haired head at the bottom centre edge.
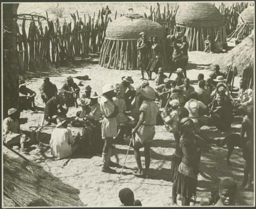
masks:
<svg viewBox="0 0 256 209"><path fill-rule="evenodd" d="M123 188L119 191L118 197L122 203L121 206L142 206L140 200L134 199L134 193L129 188Z"/></svg>

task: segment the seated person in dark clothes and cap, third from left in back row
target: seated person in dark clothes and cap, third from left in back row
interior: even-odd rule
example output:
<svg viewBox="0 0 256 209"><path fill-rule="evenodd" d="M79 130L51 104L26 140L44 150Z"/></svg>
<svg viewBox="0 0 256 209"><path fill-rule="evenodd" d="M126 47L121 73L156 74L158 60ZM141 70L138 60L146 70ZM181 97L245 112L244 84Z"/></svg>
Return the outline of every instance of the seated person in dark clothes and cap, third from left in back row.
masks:
<svg viewBox="0 0 256 209"><path fill-rule="evenodd" d="M63 84L60 91L64 92L67 107L78 107L76 99L79 98L80 88L76 85L71 76L66 78L66 83Z"/></svg>

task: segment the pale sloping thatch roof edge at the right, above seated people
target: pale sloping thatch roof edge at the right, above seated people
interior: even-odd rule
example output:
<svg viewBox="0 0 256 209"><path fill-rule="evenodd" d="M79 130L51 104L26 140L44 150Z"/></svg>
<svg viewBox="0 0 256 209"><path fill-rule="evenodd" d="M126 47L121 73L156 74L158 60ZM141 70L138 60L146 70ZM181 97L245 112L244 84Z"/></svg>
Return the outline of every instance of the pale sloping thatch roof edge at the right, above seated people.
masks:
<svg viewBox="0 0 256 209"><path fill-rule="evenodd" d="M254 71L254 31L247 36L237 47L233 48L221 59L213 64L219 64L220 67L225 67L229 63L233 63L238 69L238 75L242 75L243 69L247 65Z"/></svg>

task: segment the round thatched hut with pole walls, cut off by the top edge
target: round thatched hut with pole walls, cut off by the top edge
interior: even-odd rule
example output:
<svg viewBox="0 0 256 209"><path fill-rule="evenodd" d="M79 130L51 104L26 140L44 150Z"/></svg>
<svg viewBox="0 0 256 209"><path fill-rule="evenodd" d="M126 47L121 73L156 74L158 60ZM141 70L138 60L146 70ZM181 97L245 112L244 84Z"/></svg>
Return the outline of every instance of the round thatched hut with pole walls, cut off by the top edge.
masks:
<svg viewBox="0 0 256 209"><path fill-rule="evenodd" d="M220 31L221 43L226 43L224 19L212 3L181 3L176 14L176 32L187 36L189 51L204 51L204 40L210 35L213 42Z"/></svg>

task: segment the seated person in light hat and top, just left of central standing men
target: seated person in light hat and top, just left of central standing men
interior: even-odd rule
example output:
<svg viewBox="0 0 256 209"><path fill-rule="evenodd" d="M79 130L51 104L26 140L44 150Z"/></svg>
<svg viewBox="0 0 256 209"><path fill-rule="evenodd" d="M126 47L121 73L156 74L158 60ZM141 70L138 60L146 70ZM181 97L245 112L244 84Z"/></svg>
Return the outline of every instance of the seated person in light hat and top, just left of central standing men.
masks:
<svg viewBox="0 0 256 209"><path fill-rule="evenodd" d="M92 87L90 85L86 85L83 88L84 94L82 94L81 98L77 98L77 104L82 108L82 111L77 111L76 116L78 118L83 118L85 115L90 112L90 97L92 92Z"/></svg>

